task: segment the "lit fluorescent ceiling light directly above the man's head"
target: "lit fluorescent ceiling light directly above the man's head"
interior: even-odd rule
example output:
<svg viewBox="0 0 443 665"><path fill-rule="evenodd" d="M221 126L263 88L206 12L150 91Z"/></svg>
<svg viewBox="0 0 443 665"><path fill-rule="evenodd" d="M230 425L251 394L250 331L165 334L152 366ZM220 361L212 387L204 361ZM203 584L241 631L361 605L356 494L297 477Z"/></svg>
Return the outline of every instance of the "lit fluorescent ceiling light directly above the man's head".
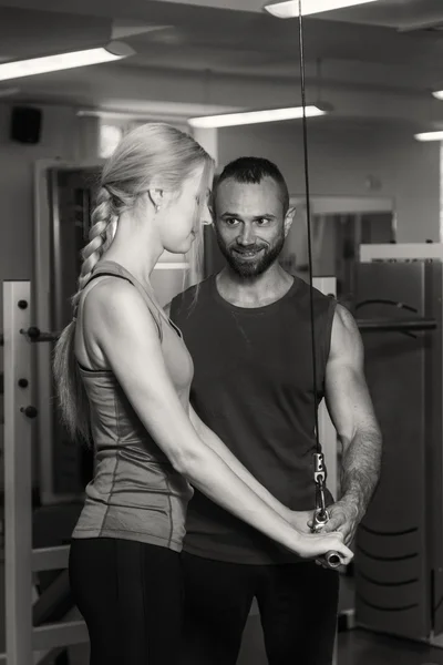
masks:
<svg viewBox="0 0 443 665"><path fill-rule="evenodd" d="M324 105L306 106L306 116L324 115L330 109ZM297 120L303 116L302 106L291 109L269 109L264 111L240 111L239 113L224 113L222 115L203 115L202 117L189 117L188 123L193 127L233 127L244 124L256 124L261 122L280 122L282 120Z"/></svg>

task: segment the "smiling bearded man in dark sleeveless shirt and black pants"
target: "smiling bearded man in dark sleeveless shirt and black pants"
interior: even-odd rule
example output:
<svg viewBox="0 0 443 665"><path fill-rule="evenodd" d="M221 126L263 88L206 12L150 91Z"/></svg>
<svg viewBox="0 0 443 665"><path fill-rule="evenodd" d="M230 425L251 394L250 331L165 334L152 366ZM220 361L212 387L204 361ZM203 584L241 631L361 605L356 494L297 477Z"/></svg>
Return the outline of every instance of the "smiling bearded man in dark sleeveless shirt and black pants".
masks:
<svg viewBox="0 0 443 665"><path fill-rule="evenodd" d="M281 503L315 508L310 287L278 263L295 211L277 166L244 157L214 192L226 267L172 301L194 359L192 405ZM318 400L342 443L342 497L328 531L349 544L379 478L381 437L352 316L313 291ZM202 432L204 438L204 432ZM306 526L308 530L308 526ZM337 571L301 562L196 492L184 543L186 665L235 665L257 598L270 665L328 665Z"/></svg>

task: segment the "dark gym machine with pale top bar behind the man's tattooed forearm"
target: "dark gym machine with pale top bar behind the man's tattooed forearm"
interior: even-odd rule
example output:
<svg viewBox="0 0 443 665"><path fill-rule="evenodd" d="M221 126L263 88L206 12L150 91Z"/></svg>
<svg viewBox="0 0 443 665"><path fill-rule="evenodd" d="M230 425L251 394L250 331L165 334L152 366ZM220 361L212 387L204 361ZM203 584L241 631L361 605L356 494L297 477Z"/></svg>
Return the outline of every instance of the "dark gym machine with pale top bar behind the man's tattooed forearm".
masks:
<svg viewBox="0 0 443 665"><path fill-rule="evenodd" d="M384 450L358 530L356 623L443 647L442 260L440 244L362 245L353 314Z"/></svg>

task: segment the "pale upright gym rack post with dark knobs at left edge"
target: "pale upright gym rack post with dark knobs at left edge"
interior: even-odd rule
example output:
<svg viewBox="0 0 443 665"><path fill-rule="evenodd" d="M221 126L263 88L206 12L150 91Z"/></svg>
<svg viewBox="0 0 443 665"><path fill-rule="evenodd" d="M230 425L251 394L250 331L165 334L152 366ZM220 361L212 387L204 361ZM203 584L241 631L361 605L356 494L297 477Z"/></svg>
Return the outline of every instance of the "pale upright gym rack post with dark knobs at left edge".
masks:
<svg viewBox="0 0 443 665"><path fill-rule="evenodd" d="M39 412L33 403L38 386L32 378L32 347L54 336L32 328L31 311L30 283L3 283L7 645L0 657L7 665L30 665L35 656L43 663L53 657L53 649L87 641L86 627L75 614L62 623L45 623L69 589L65 573L33 602L33 574L65 570L69 548L33 549L32 430Z"/></svg>

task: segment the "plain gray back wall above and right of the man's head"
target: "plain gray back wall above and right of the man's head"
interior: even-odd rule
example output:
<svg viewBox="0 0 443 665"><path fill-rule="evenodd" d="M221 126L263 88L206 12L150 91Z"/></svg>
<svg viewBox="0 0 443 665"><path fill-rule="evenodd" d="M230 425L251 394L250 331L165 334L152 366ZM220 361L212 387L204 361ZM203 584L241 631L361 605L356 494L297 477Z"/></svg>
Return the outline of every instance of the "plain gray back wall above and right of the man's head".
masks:
<svg viewBox="0 0 443 665"><path fill-rule="evenodd" d="M218 151L222 166L240 155L268 157L291 195L305 193L300 124L223 129ZM308 151L312 196L393 198L398 242L439 242L439 143L419 143L411 129L391 123L321 117L308 120Z"/></svg>

